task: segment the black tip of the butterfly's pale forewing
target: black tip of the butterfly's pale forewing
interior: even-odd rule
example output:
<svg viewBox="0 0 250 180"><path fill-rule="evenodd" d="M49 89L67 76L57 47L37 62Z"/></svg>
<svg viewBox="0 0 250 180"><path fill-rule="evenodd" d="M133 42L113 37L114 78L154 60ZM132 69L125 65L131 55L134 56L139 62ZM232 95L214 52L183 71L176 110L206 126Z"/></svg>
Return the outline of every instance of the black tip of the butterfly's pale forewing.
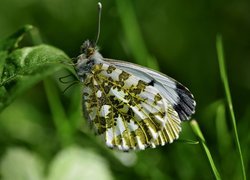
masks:
<svg viewBox="0 0 250 180"><path fill-rule="evenodd" d="M194 96L188 88L180 83L176 83L176 92L179 96L179 101L174 105L174 109L182 121L189 120L195 112L196 102Z"/></svg>

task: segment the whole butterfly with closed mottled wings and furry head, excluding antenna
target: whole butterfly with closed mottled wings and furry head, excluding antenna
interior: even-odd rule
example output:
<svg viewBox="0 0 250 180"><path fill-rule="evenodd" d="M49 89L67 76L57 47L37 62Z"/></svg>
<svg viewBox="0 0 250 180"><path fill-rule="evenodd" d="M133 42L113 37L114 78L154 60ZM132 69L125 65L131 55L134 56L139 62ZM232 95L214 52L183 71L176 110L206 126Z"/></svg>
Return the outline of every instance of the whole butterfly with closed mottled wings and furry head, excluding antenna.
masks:
<svg viewBox="0 0 250 180"><path fill-rule="evenodd" d="M85 116L106 145L122 151L177 139L181 121L194 113L187 88L154 70L105 59L89 41L75 66L83 82Z"/></svg>

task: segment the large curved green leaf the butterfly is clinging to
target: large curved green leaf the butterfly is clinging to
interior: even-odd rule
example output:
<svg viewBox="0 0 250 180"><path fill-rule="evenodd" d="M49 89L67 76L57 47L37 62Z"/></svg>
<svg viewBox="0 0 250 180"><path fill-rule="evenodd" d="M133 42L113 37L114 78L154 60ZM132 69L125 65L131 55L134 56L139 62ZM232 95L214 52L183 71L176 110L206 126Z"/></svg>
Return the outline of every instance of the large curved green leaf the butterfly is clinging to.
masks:
<svg viewBox="0 0 250 180"><path fill-rule="evenodd" d="M14 50L5 59L0 79L0 111L18 95L61 68L74 72L72 66L65 65L69 62L71 59L64 52L48 45Z"/></svg>

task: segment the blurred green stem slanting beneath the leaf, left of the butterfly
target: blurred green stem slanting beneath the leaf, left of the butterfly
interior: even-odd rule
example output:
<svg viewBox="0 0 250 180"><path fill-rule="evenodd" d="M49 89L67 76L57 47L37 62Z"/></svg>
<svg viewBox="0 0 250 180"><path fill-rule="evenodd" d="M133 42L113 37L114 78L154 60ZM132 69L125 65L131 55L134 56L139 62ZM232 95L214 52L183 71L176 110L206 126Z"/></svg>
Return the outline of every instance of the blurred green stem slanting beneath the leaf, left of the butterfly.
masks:
<svg viewBox="0 0 250 180"><path fill-rule="evenodd" d="M59 139L63 146L67 146L73 142L73 131L61 104L58 90L50 78L44 80L44 88Z"/></svg>

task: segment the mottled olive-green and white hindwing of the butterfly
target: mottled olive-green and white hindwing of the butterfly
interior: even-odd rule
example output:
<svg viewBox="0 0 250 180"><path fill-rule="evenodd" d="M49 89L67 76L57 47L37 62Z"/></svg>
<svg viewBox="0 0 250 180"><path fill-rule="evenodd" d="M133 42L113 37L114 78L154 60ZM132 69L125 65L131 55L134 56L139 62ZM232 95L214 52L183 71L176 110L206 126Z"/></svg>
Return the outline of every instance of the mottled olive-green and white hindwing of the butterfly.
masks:
<svg viewBox="0 0 250 180"><path fill-rule="evenodd" d="M86 116L108 147L141 150L178 138L178 113L158 89L140 77L98 63L92 66L84 85Z"/></svg>

